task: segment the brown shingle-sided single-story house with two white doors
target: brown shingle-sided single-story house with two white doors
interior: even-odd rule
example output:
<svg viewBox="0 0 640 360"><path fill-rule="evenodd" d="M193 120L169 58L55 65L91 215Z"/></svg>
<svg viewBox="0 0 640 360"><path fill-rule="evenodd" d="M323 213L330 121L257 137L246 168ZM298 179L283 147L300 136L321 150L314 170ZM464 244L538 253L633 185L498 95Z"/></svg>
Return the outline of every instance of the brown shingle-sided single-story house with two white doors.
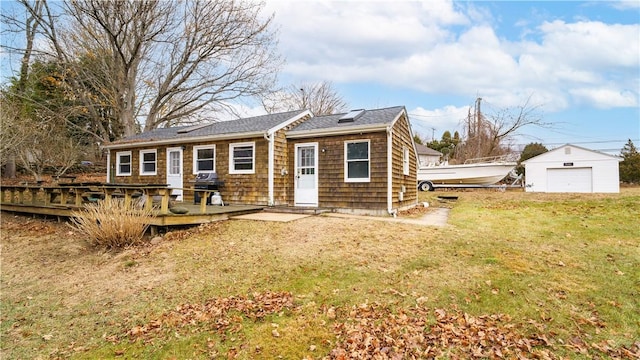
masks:
<svg viewBox="0 0 640 360"><path fill-rule="evenodd" d="M417 157L403 106L308 110L155 129L104 146L107 181L167 183L179 200L216 173L228 204L394 214L417 204Z"/></svg>

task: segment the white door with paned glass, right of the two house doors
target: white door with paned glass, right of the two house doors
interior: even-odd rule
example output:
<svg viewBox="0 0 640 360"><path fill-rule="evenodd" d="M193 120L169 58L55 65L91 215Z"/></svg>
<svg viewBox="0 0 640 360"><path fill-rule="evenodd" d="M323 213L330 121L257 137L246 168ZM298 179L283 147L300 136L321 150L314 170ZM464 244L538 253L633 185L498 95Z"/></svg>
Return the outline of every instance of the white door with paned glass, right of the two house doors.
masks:
<svg viewBox="0 0 640 360"><path fill-rule="evenodd" d="M318 143L296 144L294 203L318 206Z"/></svg>

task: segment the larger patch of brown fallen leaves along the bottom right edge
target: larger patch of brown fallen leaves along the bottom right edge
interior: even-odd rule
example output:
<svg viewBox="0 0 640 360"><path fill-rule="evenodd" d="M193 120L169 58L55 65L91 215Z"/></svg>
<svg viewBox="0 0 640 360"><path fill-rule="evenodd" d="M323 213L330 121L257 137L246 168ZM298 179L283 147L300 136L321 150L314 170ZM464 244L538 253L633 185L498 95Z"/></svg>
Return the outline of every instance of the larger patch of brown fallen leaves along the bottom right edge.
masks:
<svg viewBox="0 0 640 360"><path fill-rule="evenodd" d="M354 306L346 312L347 321L334 325L338 341L329 359L561 358L552 352L554 344L544 334L523 335L524 329L505 314L471 316L455 308L430 312L421 306L392 313L380 304ZM591 350L611 358L635 359L639 346L615 349L592 344Z"/></svg>

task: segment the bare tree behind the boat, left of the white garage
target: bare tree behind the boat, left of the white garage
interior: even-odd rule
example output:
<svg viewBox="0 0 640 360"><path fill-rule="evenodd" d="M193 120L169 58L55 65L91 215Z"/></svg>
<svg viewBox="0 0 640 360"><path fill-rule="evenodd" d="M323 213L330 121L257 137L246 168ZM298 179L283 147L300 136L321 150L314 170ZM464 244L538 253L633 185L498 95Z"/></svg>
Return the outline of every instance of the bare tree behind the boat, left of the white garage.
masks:
<svg viewBox="0 0 640 360"><path fill-rule="evenodd" d="M478 98L474 111L463 122L463 141L456 147L458 162L471 158L506 155L511 152L509 141L526 126L548 127L542 120L541 105L532 105L529 96L522 105L483 113L482 98Z"/></svg>

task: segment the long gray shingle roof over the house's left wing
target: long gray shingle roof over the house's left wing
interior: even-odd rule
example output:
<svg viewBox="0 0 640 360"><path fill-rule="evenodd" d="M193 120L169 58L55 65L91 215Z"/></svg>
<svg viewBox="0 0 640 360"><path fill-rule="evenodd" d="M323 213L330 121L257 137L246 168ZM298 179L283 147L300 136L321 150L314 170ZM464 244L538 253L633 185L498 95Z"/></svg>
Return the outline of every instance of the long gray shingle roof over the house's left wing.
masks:
<svg viewBox="0 0 640 360"><path fill-rule="evenodd" d="M154 129L134 136L129 136L122 140L113 142L112 144L263 132L282 124L303 112L305 112L305 110L253 116L238 120L220 121L203 126L178 126ZM193 130L185 131L189 130L189 128L193 128Z"/></svg>

